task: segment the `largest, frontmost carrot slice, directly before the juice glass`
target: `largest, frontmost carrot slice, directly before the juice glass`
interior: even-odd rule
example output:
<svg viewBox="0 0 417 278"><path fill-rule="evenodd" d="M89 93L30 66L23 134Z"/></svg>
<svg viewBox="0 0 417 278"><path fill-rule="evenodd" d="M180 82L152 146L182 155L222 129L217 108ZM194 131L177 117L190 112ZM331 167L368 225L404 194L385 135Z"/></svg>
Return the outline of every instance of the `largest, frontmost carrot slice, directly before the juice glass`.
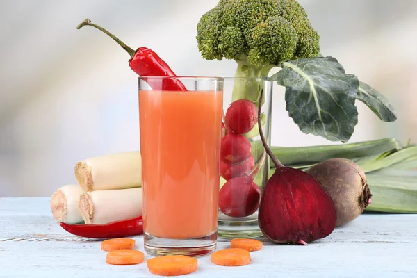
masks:
<svg viewBox="0 0 417 278"><path fill-rule="evenodd" d="M197 270L197 259L183 255L158 256L147 260L147 267L154 275L186 275Z"/></svg>

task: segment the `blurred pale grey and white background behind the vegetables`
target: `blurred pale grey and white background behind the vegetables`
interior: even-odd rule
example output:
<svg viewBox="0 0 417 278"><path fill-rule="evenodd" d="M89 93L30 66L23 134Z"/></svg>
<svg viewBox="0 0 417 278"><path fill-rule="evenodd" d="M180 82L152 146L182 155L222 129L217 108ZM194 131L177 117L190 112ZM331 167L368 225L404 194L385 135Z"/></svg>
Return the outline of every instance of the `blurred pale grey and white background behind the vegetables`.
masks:
<svg viewBox="0 0 417 278"><path fill-rule="evenodd" d="M196 25L217 0L0 1L0 197L50 196L75 183L74 165L139 149L137 76L129 55L92 19L136 49L154 49L177 75L233 76L231 60L203 60ZM334 56L390 99L398 120L366 106L350 142L417 141L417 1L300 0ZM272 74L273 72L271 72ZM273 97L272 145L330 144L301 133Z"/></svg>

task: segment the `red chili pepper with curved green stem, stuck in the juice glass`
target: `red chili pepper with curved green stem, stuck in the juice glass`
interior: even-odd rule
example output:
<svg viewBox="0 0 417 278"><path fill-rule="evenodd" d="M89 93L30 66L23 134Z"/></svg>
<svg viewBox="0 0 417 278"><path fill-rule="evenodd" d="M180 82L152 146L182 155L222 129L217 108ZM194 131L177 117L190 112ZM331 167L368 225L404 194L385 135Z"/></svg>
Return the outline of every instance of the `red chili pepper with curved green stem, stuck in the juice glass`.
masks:
<svg viewBox="0 0 417 278"><path fill-rule="evenodd" d="M176 74L171 70L170 66L162 60L158 54L155 53L152 49L147 47L139 47L138 49L133 50L128 47L124 42L119 40L115 35L108 32L106 29L98 26L97 24L91 23L90 19L85 19L81 22L77 29L89 25L99 29L100 31L106 33L111 37L115 42L117 42L126 52L131 56L129 59L129 67L136 72L139 76L176 76ZM149 79L150 80L150 79ZM178 79L170 78L164 79L162 82L162 88L154 88L154 90L181 90L186 91L186 87Z"/></svg>

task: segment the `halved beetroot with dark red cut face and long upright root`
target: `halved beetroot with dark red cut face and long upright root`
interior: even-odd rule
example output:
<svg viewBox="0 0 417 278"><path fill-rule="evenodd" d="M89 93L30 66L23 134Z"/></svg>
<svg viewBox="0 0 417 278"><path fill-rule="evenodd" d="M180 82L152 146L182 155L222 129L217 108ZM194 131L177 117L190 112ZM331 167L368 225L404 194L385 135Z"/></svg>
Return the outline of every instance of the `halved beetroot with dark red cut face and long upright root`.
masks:
<svg viewBox="0 0 417 278"><path fill-rule="evenodd" d="M261 98L262 94L261 91ZM263 147L276 167L259 205L258 222L263 235L276 243L302 245L329 236L336 227L332 197L310 174L284 167L268 147L261 126L259 120Z"/></svg>

